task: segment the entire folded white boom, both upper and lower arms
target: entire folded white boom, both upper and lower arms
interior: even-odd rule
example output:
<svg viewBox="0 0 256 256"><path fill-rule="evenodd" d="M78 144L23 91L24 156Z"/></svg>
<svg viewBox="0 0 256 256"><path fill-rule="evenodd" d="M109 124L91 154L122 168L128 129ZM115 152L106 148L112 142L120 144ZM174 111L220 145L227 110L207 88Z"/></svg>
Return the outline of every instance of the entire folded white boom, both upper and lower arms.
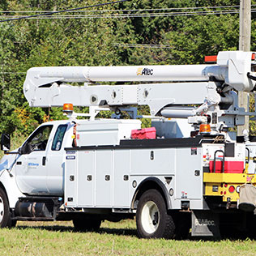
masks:
<svg viewBox="0 0 256 256"><path fill-rule="evenodd" d="M255 86L254 56L252 52L220 52L215 65L33 67L28 70L23 92L29 105L35 107L64 103L110 108L149 105L151 115L164 117L191 117L207 111L218 112L218 116L234 116L239 113L234 112L238 106L237 95L232 90L250 92ZM138 81L151 83L87 84ZM68 82L85 84L72 86ZM226 105L228 112L220 111L220 103ZM167 108L173 105L201 106Z"/></svg>

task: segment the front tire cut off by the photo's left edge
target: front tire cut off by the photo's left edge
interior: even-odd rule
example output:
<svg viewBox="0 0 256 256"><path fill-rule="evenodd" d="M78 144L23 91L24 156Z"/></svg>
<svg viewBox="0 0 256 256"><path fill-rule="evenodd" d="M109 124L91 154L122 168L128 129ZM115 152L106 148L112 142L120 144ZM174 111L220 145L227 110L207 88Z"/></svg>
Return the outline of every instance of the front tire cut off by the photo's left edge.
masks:
<svg viewBox="0 0 256 256"><path fill-rule="evenodd" d="M0 228L11 228L15 222L11 220L11 211L6 193L0 188Z"/></svg>

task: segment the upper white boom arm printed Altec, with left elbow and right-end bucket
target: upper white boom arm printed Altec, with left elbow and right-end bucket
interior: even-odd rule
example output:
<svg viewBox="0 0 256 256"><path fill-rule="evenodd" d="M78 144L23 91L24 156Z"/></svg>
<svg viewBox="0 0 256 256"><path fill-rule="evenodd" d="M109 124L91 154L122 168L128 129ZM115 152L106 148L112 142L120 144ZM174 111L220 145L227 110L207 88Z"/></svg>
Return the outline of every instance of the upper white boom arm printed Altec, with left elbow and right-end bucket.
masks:
<svg viewBox="0 0 256 256"><path fill-rule="evenodd" d="M33 67L28 70L23 91L29 104L38 107L59 105L62 97L62 104L65 103L68 96L62 93L64 87L59 87L60 90L50 87L53 83L65 82L194 82L209 81L214 78L230 85L237 91L250 92L255 85L247 76L248 73L255 75L252 72L252 65L255 65L256 62L252 62L252 54L254 53L240 51L220 52L216 65ZM48 93L41 95L45 87L48 88ZM63 91L65 92L65 89ZM164 92L161 93L164 94ZM49 97L51 97L51 102L49 102ZM56 97L58 97L58 104L55 103L54 98ZM78 105L77 102L74 103ZM81 105L87 104L81 103Z"/></svg>

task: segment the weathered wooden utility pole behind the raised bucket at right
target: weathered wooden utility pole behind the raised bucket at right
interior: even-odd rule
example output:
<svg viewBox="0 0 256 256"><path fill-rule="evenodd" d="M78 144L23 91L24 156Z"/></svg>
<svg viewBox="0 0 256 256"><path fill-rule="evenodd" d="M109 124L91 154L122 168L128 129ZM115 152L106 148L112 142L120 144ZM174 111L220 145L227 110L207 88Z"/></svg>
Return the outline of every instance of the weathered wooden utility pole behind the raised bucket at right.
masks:
<svg viewBox="0 0 256 256"><path fill-rule="evenodd" d="M250 52L250 29L251 29L251 0L240 0L240 28L239 28L239 50ZM238 103L240 108L249 111L249 93L238 92ZM249 117L245 117L245 125L237 126L237 135L241 136L243 130L249 130Z"/></svg>

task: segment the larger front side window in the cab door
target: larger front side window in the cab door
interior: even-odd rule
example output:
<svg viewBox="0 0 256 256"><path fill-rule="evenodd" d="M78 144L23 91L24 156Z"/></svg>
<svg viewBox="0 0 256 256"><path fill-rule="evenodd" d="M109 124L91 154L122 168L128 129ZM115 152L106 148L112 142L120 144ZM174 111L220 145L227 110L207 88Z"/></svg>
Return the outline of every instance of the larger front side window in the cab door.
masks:
<svg viewBox="0 0 256 256"><path fill-rule="evenodd" d="M49 134L53 126L41 126L35 131L34 134L23 145L23 151L25 154L29 154L32 151L45 151Z"/></svg>

